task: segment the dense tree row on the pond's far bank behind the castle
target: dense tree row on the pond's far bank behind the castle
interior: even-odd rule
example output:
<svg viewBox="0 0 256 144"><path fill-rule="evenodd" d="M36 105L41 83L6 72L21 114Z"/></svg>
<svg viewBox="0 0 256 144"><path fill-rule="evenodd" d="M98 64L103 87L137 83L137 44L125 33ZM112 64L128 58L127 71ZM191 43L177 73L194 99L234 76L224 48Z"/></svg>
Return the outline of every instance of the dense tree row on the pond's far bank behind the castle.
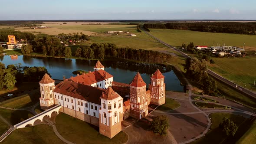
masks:
<svg viewBox="0 0 256 144"><path fill-rule="evenodd" d="M170 54L152 50L131 49L129 46L126 46L126 48L118 48L113 43L92 43L91 46L81 46L76 49L75 56L86 59L104 59L105 57L112 57L153 63L171 61Z"/></svg>

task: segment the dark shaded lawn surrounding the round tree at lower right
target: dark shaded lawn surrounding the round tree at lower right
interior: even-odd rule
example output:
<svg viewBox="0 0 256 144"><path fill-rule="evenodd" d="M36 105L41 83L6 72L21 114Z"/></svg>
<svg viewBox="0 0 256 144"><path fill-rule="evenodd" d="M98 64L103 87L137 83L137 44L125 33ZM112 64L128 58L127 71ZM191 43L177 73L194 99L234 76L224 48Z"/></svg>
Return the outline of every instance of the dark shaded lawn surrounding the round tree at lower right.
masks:
<svg viewBox="0 0 256 144"><path fill-rule="evenodd" d="M243 118L242 116L228 113L213 113L210 114L210 118L212 122L210 131L207 132L203 138L200 138L190 144L220 144L221 142L222 144L234 144L234 140L239 137L238 131L243 129L243 124L245 124L243 121L246 120L246 118ZM234 137L227 137L225 133L219 128L219 124L222 122L223 118L229 118L237 126L240 126L237 130L237 134Z"/></svg>

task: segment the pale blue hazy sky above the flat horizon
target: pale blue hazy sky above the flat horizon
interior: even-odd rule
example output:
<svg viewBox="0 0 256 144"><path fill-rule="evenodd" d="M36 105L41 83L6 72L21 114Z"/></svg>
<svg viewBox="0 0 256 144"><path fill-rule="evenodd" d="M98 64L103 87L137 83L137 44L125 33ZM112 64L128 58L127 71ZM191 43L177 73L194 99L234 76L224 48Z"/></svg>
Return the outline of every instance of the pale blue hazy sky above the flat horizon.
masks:
<svg viewBox="0 0 256 144"><path fill-rule="evenodd" d="M256 20L256 0L0 0L0 20Z"/></svg>

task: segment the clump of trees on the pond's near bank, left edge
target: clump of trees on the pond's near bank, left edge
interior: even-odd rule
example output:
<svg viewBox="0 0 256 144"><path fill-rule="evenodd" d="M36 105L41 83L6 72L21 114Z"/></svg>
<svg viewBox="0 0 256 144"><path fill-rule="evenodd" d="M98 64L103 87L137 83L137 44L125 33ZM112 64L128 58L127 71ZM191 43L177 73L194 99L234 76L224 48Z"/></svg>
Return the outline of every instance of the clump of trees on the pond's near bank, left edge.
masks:
<svg viewBox="0 0 256 144"><path fill-rule="evenodd" d="M0 62L0 89L12 90L16 82L39 82L45 73L45 67L28 67L21 64L5 65ZM49 73L48 73L49 74Z"/></svg>

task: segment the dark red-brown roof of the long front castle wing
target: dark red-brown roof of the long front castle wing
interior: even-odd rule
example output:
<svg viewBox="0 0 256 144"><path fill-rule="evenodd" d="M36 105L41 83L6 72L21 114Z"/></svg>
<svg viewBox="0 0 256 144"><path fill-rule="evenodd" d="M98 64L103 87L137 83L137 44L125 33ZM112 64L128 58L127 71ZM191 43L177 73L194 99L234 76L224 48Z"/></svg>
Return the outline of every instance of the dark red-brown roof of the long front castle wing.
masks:
<svg viewBox="0 0 256 144"><path fill-rule="evenodd" d="M105 89L65 80L56 85L53 92L101 105L100 97Z"/></svg>

